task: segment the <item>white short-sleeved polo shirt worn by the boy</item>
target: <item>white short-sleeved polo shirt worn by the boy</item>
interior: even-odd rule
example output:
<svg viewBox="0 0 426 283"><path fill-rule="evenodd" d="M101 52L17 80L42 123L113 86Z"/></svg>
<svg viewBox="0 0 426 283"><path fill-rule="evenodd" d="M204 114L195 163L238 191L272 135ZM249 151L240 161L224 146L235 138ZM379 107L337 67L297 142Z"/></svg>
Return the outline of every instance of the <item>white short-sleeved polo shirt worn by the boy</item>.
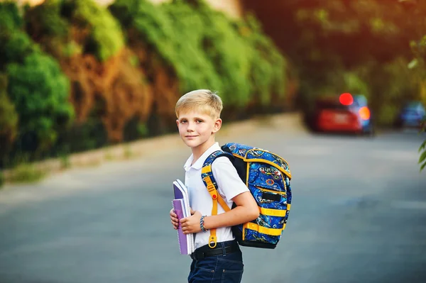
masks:
<svg viewBox="0 0 426 283"><path fill-rule="evenodd" d="M185 162L185 186L190 192L190 206L193 211L200 211L201 215L211 216L212 215L212 196L207 191L204 182L201 178L201 169L204 161L213 152L221 150L219 143L214 143L209 149L207 149L203 155L191 166L194 156L191 155ZM246 184L241 181L234 165L231 164L228 157L222 156L217 157L212 164L212 172L214 179L216 179L218 192L228 204L229 208L232 207L234 201L232 199L244 192L249 192ZM217 214L224 213L224 209L220 204L217 204ZM200 248L203 245L209 243L210 231L195 233L195 248ZM216 230L217 243L224 242L226 240L234 240L231 227L217 228Z"/></svg>

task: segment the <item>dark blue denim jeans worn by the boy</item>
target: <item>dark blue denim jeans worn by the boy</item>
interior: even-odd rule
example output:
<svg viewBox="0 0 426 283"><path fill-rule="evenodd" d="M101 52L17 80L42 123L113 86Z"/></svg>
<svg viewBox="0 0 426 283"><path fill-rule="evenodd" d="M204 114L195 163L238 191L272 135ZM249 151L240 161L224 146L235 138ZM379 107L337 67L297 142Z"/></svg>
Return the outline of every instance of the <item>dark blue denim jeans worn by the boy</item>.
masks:
<svg viewBox="0 0 426 283"><path fill-rule="evenodd" d="M240 283L243 271L241 250L204 257L202 260L192 260L188 283Z"/></svg>

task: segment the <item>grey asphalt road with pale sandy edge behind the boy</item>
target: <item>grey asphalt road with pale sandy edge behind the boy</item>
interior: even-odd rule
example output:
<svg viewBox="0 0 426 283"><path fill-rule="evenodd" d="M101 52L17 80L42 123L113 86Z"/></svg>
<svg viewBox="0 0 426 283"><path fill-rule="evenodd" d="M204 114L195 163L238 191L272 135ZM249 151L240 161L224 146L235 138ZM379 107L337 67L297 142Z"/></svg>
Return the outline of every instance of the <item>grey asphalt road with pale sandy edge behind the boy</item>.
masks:
<svg viewBox="0 0 426 283"><path fill-rule="evenodd" d="M425 135L222 135L290 164L293 205L275 250L243 248L245 283L426 282ZM1 283L186 282L168 211L180 143L0 191Z"/></svg>

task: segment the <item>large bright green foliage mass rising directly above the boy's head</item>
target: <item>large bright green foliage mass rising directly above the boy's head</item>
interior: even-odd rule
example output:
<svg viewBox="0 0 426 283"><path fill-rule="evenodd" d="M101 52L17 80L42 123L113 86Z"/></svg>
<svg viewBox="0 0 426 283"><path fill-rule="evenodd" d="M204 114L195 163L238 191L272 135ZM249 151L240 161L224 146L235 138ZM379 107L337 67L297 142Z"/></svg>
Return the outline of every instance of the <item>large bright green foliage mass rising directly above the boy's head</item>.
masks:
<svg viewBox="0 0 426 283"><path fill-rule="evenodd" d="M253 18L231 21L204 1L154 6L146 0L117 0L109 9L171 67L182 92L214 89L225 105L233 106L246 105L253 94L264 103L272 91L283 94L283 56Z"/></svg>

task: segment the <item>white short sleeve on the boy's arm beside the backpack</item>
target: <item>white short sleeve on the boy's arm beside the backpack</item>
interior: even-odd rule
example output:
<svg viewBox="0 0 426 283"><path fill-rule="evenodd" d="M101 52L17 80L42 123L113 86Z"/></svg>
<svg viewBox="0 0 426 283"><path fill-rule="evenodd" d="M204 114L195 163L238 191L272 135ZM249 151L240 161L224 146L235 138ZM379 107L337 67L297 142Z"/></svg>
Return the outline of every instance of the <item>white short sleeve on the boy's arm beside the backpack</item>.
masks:
<svg viewBox="0 0 426 283"><path fill-rule="evenodd" d="M226 197L226 201L232 201L235 196L241 193L249 192L234 165L228 157L222 156L214 160L212 164L213 177L216 179L219 194Z"/></svg>

